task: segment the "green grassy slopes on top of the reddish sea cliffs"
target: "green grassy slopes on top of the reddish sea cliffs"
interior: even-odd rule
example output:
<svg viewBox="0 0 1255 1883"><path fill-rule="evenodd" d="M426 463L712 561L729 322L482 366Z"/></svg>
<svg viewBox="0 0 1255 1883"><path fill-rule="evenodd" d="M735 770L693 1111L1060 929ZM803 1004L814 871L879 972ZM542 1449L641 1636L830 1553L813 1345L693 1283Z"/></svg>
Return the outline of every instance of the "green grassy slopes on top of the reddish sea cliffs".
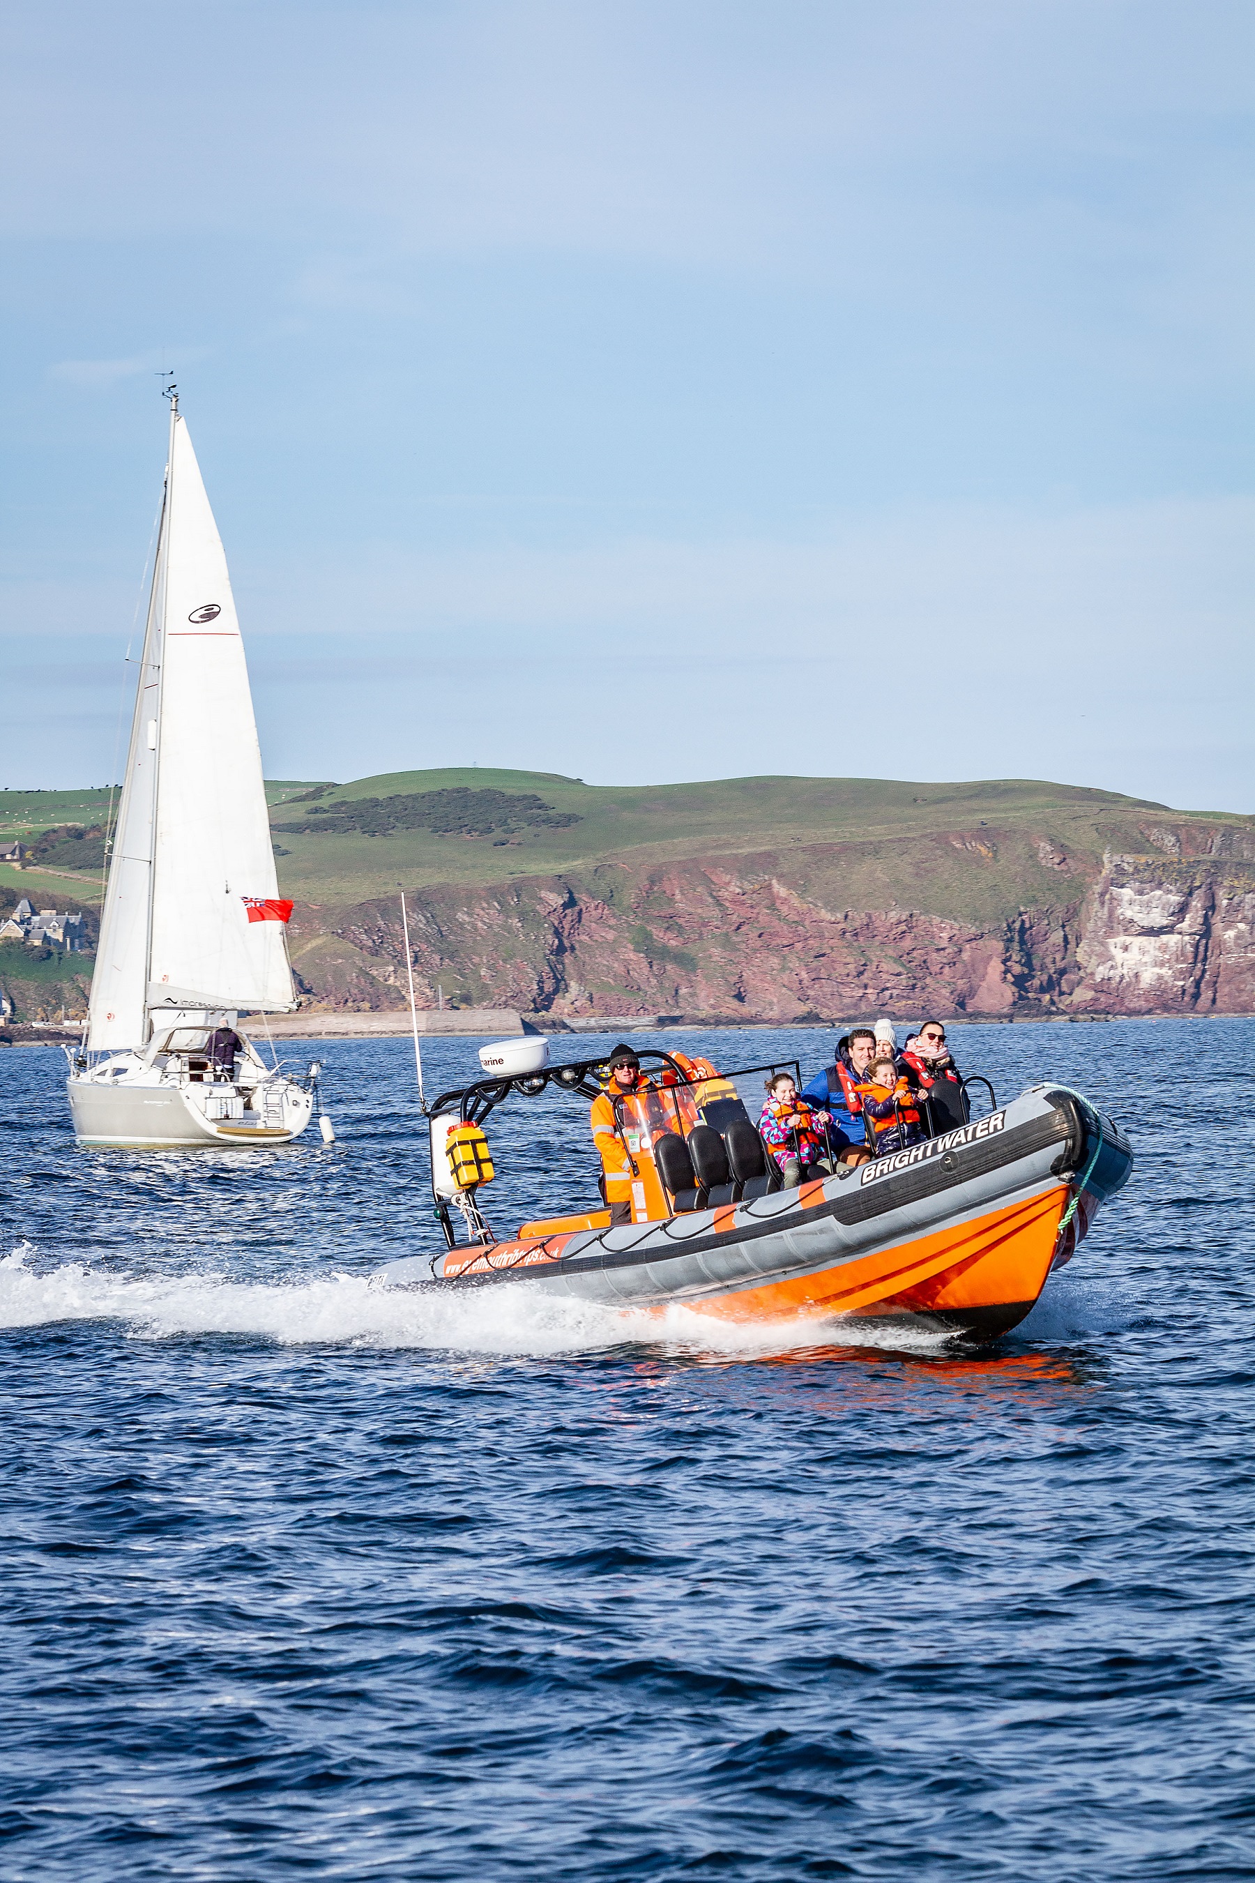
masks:
<svg viewBox="0 0 1255 1883"><path fill-rule="evenodd" d="M335 817L337 808L348 812L359 800L433 793L504 793L540 800L576 821L523 823L504 834L403 829L369 836L316 829L314 806L342 823ZM608 864L638 872L691 857L773 853L788 857L803 876L811 874L807 866L826 876L839 853L849 906L899 902L988 919L1024 904L1025 893L1029 902L1050 900L1057 864L1041 861L1042 842L1089 874L1106 849L1146 851L1146 825L1155 815L1174 827L1246 823L1039 780L924 785L873 778L732 778L692 785L585 785L557 772L448 768L386 772L346 785L277 780L267 783L267 798L277 827L309 825L307 830L278 829L275 845L284 894L314 908L357 904L399 887L489 887L523 876L587 874ZM0 838L32 842L62 825L103 823L107 810L107 789L0 793ZM1042 894L1033 896L1033 887ZM56 906L68 900L98 906L100 872L0 870L0 906L11 906L19 894Z"/></svg>

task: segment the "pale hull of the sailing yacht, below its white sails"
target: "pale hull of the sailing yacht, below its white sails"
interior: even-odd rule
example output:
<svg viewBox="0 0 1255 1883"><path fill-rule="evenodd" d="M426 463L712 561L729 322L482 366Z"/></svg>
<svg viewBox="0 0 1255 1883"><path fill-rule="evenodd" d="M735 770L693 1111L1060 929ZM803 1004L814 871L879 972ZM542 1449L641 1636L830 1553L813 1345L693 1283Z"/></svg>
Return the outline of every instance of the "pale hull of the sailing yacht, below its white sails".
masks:
<svg viewBox="0 0 1255 1883"><path fill-rule="evenodd" d="M186 1088L175 1085L98 1085L66 1081L73 1135L81 1145L128 1151L263 1151L292 1143L310 1120L312 1094L284 1085L258 1122L211 1119Z"/></svg>

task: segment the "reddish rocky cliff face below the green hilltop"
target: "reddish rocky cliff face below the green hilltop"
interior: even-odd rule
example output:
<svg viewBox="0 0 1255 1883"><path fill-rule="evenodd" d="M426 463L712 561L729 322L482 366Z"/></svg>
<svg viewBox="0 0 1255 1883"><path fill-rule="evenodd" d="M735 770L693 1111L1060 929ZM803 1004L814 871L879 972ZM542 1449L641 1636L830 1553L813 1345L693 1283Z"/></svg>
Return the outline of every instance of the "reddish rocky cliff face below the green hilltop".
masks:
<svg viewBox="0 0 1255 1883"><path fill-rule="evenodd" d="M410 904L416 990L421 1006L440 990L448 1004L553 1019L1255 1011L1255 832L1165 823L1142 834L1146 855L1103 857L1048 836L1024 849L1020 834L984 827L948 834L973 870L1012 844L1027 857L1031 904L982 919L911 908L918 857L884 845L871 861L869 845L830 844L429 885ZM873 862L882 887L898 877L899 889L886 906L849 906L841 885L866 891ZM395 902L342 909L329 928L310 917L297 908L292 943L316 1006L403 1004Z"/></svg>

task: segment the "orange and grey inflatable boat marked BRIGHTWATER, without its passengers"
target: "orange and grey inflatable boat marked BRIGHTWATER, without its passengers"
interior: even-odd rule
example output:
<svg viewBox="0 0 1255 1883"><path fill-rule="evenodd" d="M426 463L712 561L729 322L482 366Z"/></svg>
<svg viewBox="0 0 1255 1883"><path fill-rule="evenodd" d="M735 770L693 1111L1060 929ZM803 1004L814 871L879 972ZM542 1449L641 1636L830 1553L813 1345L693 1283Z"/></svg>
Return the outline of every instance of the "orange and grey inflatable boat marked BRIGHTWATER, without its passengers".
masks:
<svg viewBox="0 0 1255 1883"><path fill-rule="evenodd" d="M1024 1320L1133 1167L1112 1119L1042 1083L907 1151L783 1190L747 1137L756 1132L736 1094L741 1073L721 1077L683 1054L640 1058L655 1075L649 1090L615 1100L638 1220L610 1228L608 1215L583 1213L527 1222L506 1241L487 1231L476 1201L493 1171L487 1115L516 1094L604 1088L604 1062L540 1062L437 1102L433 1186L452 1247L391 1262L376 1279L440 1290L519 1282L634 1309L679 1301L741 1322L854 1314L984 1343ZM474 1149L465 1186L463 1145ZM452 1211L467 1222L463 1243Z"/></svg>

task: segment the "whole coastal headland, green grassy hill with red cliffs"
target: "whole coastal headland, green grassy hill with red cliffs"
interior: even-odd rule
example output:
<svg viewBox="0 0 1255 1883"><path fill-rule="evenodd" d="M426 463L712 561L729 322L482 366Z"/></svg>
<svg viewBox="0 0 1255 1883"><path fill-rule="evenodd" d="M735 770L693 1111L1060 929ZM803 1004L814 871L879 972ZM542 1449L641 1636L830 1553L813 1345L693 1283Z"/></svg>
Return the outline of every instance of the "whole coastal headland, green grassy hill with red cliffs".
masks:
<svg viewBox="0 0 1255 1883"><path fill-rule="evenodd" d="M1176 979L1191 1011L1255 1000L1232 940L1255 925L1244 817L1042 780L585 785L474 766L280 780L267 798L294 968L333 1006L399 1004L399 889L423 1004L444 989L555 1013L786 1017L854 998L1001 1011L1136 994L1172 1011ZM0 793L0 836L43 832L38 868L0 870L0 908L98 906L98 866L75 864L100 853L107 812L107 791ZM1121 909L1146 894L1180 909L1129 928ZM1161 947L1161 930L1176 940ZM1121 957L1133 932L1150 940ZM1127 994L1118 957L1163 960Z"/></svg>

